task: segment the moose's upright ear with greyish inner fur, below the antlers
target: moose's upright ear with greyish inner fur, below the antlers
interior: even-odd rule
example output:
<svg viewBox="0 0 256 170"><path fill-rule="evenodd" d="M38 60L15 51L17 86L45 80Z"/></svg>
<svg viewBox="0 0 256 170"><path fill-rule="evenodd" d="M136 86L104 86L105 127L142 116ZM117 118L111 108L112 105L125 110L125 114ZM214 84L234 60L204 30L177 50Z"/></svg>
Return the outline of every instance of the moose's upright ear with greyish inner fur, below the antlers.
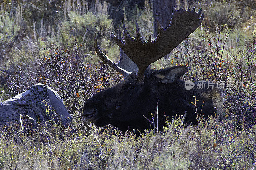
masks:
<svg viewBox="0 0 256 170"><path fill-rule="evenodd" d="M174 66L171 68L161 69L156 71L156 77L160 78L162 83L172 83L178 80L188 71L186 66Z"/></svg>

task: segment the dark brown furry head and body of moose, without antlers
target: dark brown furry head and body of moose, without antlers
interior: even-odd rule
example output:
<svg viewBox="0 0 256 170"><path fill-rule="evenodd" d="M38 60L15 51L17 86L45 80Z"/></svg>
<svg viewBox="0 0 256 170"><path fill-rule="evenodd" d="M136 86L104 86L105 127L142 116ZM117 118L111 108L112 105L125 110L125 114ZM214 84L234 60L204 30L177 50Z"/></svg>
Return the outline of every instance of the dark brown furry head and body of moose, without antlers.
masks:
<svg viewBox="0 0 256 170"><path fill-rule="evenodd" d="M151 113L155 113L158 103L158 120L155 124L162 130L166 117L172 119L175 115L187 115L185 122L198 123L197 113L201 116L223 118L223 97L220 89L185 89L185 81L179 78L187 72L185 66L175 66L162 70L146 69L145 79L137 81L136 72L132 72L119 84L96 93L84 105L83 120L93 122L102 127L107 124L122 132L127 130L149 129ZM195 97L194 97L195 96ZM196 107L191 102L195 103ZM120 106L120 107L119 107ZM151 128L153 126L151 125Z"/></svg>

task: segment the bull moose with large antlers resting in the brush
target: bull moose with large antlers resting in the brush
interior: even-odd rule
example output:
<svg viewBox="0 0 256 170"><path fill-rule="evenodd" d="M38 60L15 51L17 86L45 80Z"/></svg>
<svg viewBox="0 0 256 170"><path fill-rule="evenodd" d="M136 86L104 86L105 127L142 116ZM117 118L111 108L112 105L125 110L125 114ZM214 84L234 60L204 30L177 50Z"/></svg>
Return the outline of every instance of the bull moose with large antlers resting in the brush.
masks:
<svg viewBox="0 0 256 170"><path fill-rule="evenodd" d="M98 127L111 124L123 132L132 129L142 131L150 127L151 123L145 117L150 119L156 107L158 118L155 118L155 123L160 128L158 130L163 128L166 116L184 115L186 111L184 121L187 123L198 123L197 114L222 119L223 95L215 85L214 88L197 89L198 82L195 82L194 88L186 90L185 81L180 80L188 71L186 66L161 70L148 68L193 33L200 26L203 17L201 9L195 12L195 8L192 11L173 8L170 24L164 29L157 15L158 35L153 41L150 35L147 42L140 37L137 22L136 37L131 38L123 20L125 40L122 39L120 28L117 36L112 32L121 53L123 51L129 57L121 55L119 63L112 62L103 54L95 38L97 55L103 63L124 75L125 79L88 99L84 104L83 120L93 122ZM137 68L132 69L134 63ZM209 87L209 82L205 84Z"/></svg>

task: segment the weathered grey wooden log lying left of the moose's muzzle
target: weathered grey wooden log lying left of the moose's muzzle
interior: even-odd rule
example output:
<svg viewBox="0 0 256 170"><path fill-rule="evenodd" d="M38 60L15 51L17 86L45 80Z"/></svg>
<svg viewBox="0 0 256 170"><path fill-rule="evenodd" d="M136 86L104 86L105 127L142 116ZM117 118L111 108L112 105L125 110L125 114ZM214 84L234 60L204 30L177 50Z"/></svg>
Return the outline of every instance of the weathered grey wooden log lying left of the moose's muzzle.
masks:
<svg viewBox="0 0 256 170"><path fill-rule="evenodd" d="M46 111L47 101L51 110ZM20 122L20 114L36 120L36 122L47 122L52 119L60 120L64 128L68 128L71 125L72 117L69 115L64 103L62 102L60 95L55 92L48 85L36 84L32 85L27 91L18 94L17 96L8 99L0 103L0 125L6 123ZM38 124L31 120L33 127L37 127Z"/></svg>

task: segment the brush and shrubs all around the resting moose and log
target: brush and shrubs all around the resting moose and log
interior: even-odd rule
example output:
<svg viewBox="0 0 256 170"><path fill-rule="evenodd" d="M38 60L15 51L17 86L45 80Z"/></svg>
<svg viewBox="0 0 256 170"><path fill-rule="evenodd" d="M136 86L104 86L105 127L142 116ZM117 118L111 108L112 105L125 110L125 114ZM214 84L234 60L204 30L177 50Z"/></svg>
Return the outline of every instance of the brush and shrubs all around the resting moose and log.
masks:
<svg viewBox="0 0 256 170"><path fill-rule="evenodd" d="M75 134L54 122L0 130L0 169L252 169L256 160L255 73L256 2L183 0L205 13L202 25L151 68L186 65L184 80L224 84L225 120L200 120L185 127L167 118L164 132L118 135L107 126L81 121L84 102L123 80L98 64L95 33L101 49L114 61L112 40L124 18L130 35L135 20L144 37L154 34L153 1L1 1L0 102L43 83L55 89L74 117ZM241 84L240 82L243 82ZM26 122L26 120L24 120ZM112 134L111 134L112 133ZM111 135L110 135L111 134Z"/></svg>

